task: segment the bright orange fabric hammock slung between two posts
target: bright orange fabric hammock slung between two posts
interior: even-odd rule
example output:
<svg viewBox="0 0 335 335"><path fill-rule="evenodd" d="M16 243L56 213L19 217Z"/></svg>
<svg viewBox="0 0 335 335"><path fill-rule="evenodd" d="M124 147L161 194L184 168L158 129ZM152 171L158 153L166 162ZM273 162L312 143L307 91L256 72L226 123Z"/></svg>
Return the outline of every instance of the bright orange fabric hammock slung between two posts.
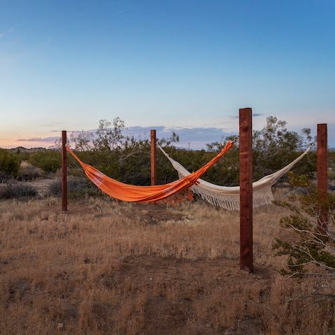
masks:
<svg viewBox="0 0 335 335"><path fill-rule="evenodd" d="M206 165L202 166L198 171L191 173L190 175L170 182L165 185L154 185L154 186L136 186L124 184L118 182L102 172L95 169L93 166L82 162L73 151L66 147L66 150L77 159L80 163L87 177L94 182L94 184L101 189L101 191L107 193L113 198L117 198L121 201L132 201L137 203L151 203L158 200L163 200L172 194L176 194L184 189L188 189L191 185L195 184L197 180L216 162L220 159L231 147L233 146L232 141L228 141L225 147L221 150L216 157L211 159Z"/></svg>

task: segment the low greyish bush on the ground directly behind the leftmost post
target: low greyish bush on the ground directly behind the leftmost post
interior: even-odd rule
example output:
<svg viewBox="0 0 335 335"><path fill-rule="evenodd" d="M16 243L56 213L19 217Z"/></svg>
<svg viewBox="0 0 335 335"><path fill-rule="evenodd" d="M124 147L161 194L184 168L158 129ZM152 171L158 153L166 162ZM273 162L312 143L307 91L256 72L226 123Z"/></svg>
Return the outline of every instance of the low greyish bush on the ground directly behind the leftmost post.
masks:
<svg viewBox="0 0 335 335"><path fill-rule="evenodd" d="M50 184L49 193L52 196L61 196L61 180L54 180ZM70 198L80 198L83 196L97 196L101 192L84 178L68 178L68 196Z"/></svg>

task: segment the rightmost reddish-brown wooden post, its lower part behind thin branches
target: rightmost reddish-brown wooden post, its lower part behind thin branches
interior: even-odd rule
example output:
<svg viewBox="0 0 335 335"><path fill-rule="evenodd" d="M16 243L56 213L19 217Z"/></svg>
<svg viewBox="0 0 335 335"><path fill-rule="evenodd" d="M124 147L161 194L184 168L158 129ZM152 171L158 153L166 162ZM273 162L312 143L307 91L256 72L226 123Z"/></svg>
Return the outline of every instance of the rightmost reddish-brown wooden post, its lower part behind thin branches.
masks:
<svg viewBox="0 0 335 335"><path fill-rule="evenodd" d="M327 123L318 123L318 194L322 203L327 201L328 178L327 178ZM328 212L325 205L320 206L318 213L318 226L327 230Z"/></svg>

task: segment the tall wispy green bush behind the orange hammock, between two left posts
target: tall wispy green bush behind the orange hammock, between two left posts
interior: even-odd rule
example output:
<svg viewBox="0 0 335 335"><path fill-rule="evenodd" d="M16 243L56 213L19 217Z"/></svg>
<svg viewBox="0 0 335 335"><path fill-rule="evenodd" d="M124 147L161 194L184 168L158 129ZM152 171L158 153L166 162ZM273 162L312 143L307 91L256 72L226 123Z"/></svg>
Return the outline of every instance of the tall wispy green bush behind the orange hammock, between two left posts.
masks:
<svg viewBox="0 0 335 335"><path fill-rule="evenodd" d="M84 139L84 134L72 134L70 144L78 150L77 155L85 163L91 164L99 171L114 179L133 185L150 185L150 142L148 139L135 139L134 137L121 136L122 123L118 125L113 120L114 128L106 120L101 120L96 137L98 141L91 143L89 134ZM105 139L104 139L105 137ZM177 136L172 134L171 139L163 139L160 143L170 146L172 141L177 141ZM167 163L166 158L158 153L162 159L157 160L158 184L177 179L177 172ZM81 166L73 157L68 159L70 174L84 177ZM86 177L84 177L86 178Z"/></svg>

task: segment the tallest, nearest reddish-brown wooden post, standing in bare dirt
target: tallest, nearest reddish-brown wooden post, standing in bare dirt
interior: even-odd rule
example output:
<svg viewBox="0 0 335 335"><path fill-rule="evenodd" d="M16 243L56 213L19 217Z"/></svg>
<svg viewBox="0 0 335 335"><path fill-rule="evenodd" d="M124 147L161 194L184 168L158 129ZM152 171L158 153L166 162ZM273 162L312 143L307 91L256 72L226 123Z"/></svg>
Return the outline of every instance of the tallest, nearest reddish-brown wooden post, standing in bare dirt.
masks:
<svg viewBox="0 0 335 335"><path fill-rule="evenodd" d="M253 272L253 120L252 109L239 109L240 268Z"/></svg>

